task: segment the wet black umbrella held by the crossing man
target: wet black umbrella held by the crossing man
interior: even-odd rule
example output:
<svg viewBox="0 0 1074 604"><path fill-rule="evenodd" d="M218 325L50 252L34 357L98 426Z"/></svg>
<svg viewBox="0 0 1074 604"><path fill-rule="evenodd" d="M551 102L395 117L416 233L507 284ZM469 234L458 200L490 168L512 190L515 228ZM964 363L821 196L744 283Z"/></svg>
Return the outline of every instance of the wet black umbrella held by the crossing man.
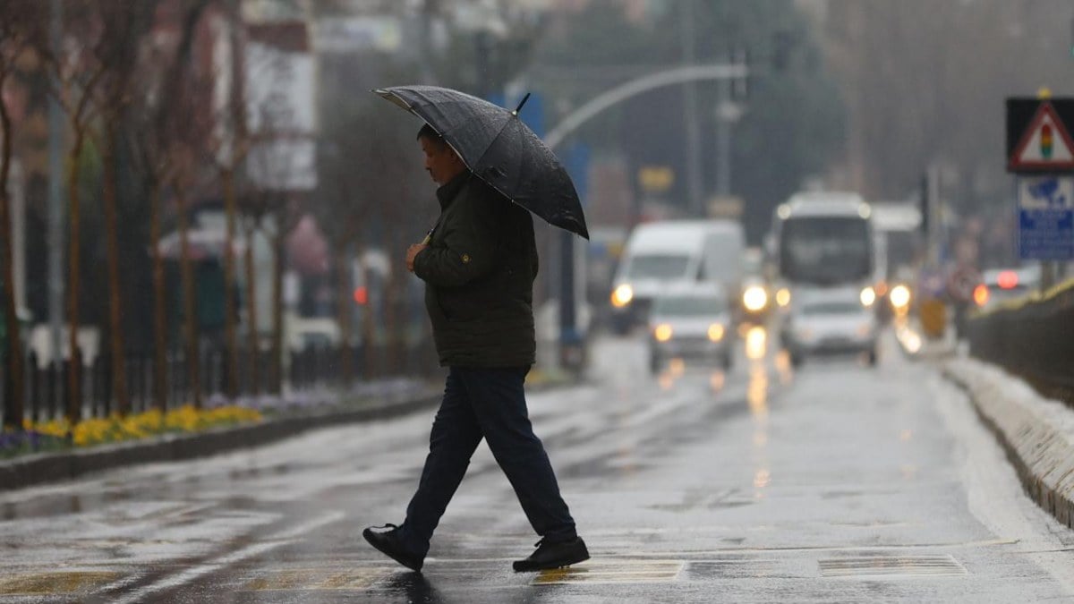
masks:
<svg viewBox="0 0 1074 604"><path fill-rule="evenodd" d="M393 86L374 92L436 130L474 174L549 224L590 239L575 184L533 130L509 111L438 86Z"/></svg>

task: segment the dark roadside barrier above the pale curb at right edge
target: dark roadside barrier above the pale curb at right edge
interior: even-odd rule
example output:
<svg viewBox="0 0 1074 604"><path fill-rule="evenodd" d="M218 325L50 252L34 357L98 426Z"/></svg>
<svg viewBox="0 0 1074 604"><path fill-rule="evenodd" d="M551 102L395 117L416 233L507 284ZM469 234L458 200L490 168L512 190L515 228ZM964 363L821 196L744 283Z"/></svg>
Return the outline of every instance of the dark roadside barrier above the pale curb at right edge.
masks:
<svg viewBox="0 0 1074 604"><path fill-rule="evenodd" d="M970 317L970 354L1074 406L1074 279Z"/></svg>

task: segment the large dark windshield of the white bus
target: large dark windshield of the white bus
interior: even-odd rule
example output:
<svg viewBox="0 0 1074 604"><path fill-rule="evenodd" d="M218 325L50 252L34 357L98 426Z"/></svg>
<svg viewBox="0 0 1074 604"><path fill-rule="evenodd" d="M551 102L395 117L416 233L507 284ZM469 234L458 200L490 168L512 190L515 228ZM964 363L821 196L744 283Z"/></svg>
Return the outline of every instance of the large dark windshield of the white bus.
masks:
<svg viewBox="0 0 1074 604"><path fill-rule="evenodd" d="M855 217L794 218L782 226L780 264L795 282L834 285L868 278L868 224Z"/></svg>

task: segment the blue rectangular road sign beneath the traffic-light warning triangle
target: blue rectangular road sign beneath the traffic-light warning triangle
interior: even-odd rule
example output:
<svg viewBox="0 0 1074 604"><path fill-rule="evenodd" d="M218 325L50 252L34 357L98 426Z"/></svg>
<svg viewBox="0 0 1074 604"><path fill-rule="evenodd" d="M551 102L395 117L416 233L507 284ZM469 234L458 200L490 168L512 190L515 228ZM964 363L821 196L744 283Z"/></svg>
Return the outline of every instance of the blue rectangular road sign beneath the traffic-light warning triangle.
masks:
<svg viewBox="0 0 1074 604"><path fill-rule="evenodd" d="M1022 259L1074 259L1074 178L1019 177L1018 231Z"/></svg>

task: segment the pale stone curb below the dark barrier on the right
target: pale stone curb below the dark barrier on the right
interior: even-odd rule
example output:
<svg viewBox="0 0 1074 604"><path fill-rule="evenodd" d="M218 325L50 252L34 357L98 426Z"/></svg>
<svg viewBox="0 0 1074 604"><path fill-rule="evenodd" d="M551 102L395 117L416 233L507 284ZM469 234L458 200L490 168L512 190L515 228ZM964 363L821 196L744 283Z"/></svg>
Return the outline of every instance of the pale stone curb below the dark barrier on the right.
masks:
<svg viewBox="0 0 1074 604"><path fill-rule="evenodd" d="M1014 376L1003 374L999 379L964 360L944 363L942 372L967 392L982 421L1003 445L1026 493L1074 529L1074 437L1058 430L1044 407L1033 408L1036 405L1020 400L1026 394L1011 392L1020 386L1035 396Z"/></svg>

